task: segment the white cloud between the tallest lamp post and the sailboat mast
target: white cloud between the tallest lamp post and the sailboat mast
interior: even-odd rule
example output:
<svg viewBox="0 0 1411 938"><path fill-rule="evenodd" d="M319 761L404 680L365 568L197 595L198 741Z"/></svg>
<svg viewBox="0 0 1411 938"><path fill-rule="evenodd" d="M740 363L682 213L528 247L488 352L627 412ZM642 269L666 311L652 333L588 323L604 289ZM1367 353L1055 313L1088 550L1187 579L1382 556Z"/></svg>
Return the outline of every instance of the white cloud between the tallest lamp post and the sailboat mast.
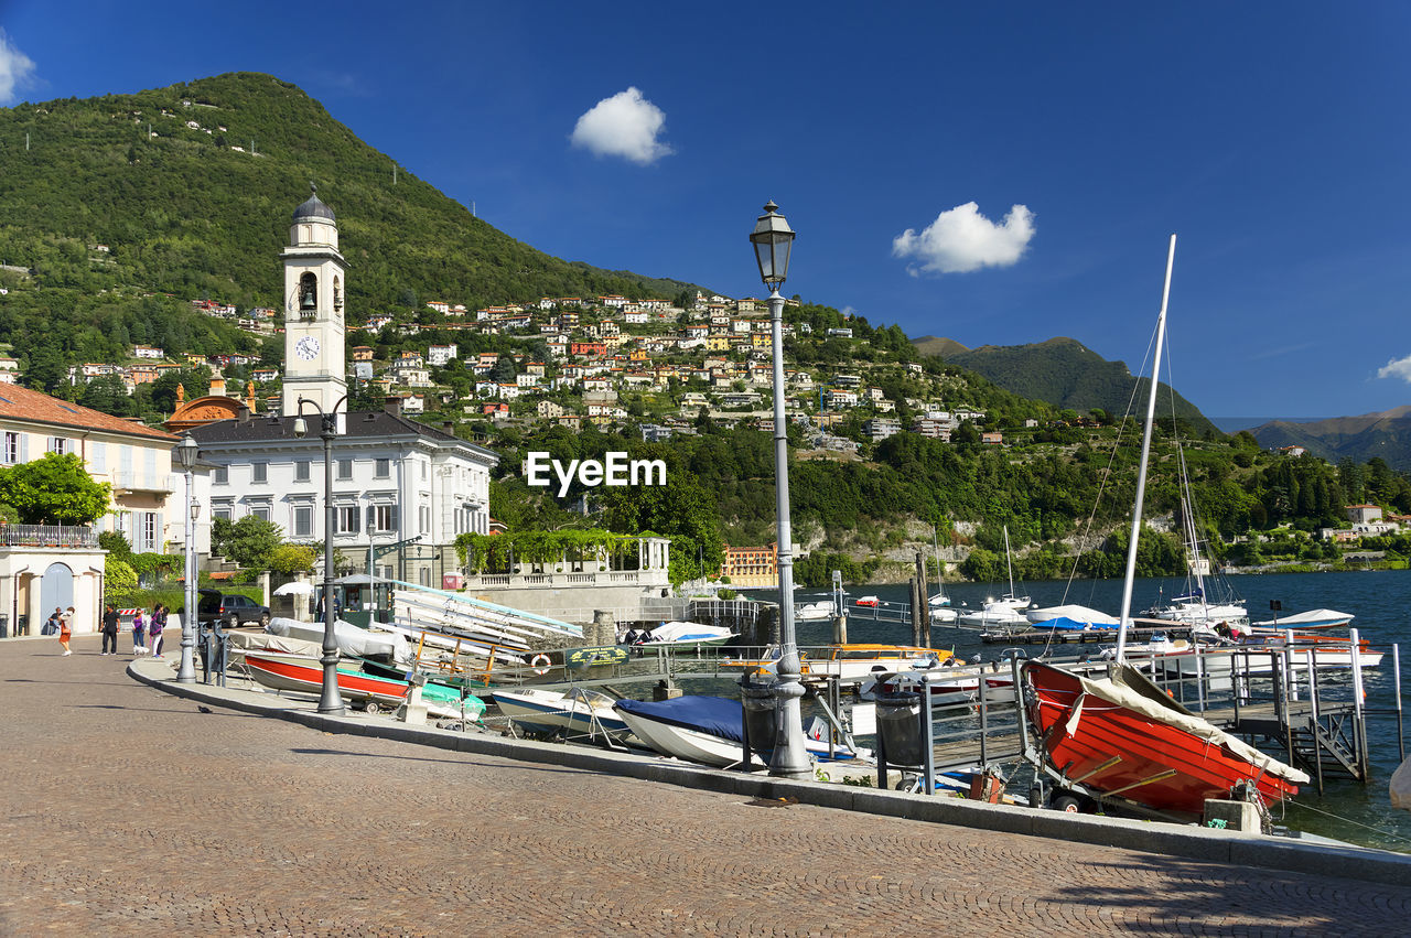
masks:
<svg viewBox="0 0 1411 938"><path fill-rule="evenodd" d="M1009 209L1002 224L979 213L974 202L935 216L920 234L907 229L892 240L893 257L920 261L907 265L912 276L964 274L982 267L1010 267L1019 262L1034 237L1034 213L1027 206Z"/></svg>

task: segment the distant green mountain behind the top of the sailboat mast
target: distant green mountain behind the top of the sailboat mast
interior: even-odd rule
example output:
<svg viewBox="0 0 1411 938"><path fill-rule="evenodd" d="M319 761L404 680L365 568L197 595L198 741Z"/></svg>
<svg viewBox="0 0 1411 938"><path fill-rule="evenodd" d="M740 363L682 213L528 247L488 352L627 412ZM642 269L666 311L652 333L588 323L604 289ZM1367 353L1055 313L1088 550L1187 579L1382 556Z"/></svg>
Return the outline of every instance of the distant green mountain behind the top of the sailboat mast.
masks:
<svg viewBox="0 0 1411 938"><path fill-rule="evenodd" d="M930 339L930 337L928 337ZM950 340L935 340L950 341ZM1146 378L1133 378L1126 364L1108 361L1074 339L1050 339L1033 346L981 346L945 355L945 361L968 368L1006 391L1024 398L1047 401L1058 408L1086 413L1102 408L1113 416L1129 410L1146 412ZM1133 403L1134 401L1134 403ZM1219 430L1199 409L1170 388L1164 381L1158 391L1157 413L1175 412L1198 436L1219 436Z"/></svg>

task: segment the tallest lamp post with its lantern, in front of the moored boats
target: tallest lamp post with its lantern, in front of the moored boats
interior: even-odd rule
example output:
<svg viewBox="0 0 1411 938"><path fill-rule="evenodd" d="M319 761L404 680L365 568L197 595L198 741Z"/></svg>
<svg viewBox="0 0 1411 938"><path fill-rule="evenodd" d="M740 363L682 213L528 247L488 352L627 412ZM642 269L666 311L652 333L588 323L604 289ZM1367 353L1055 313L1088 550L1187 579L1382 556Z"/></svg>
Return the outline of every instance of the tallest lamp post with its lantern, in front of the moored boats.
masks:
<svg viewBox="0 0 1411 938"><path fill-rule="evenodd" d="M803 722L799 701L799 646L794 640L793 619L793 530L789 523L789 429L785 423L785 298L779 285L789 275L789 251L794 233L789 221L777 214L772 200L765 205L755 230L749 236L759 262L759 279L769 288L769 323L773 331L775 360L775 494L779 512L779 667L775 677L775 752L769 759L769 774L786 779L810 776L809 755L804 750Z"/></svg>

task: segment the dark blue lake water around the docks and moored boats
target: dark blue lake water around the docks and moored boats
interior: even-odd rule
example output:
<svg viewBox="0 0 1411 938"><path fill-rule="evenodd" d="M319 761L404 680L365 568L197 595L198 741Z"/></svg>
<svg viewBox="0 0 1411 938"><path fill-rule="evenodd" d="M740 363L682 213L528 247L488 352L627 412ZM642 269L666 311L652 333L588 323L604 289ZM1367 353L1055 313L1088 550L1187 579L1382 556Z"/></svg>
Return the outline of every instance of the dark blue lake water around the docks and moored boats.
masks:
<svg viewBox="0 0 1411 938"><path fill-rule="evenodd" d="M1393 808L1387 794L1391 773L1401 763L1394 712L1397 701L1391 646L1398 645L1404 653L1411 654L1411 571L1245 575L1229 577L1228 581L1235 592L1245 599L1253 621L1273 616L1268 611L1268 604L1273 599L1283 604L1280 615L1319 608L1350 612L1356 616L1352 625L1362 638L1369 639L1373 647L1387 652L1380 667L1364 671L1367 708L1386 711L1374 712L1367 725L1371 779L1367 784L1328 779L1321 797L1312 784L1304 786L1298 797L1285 807L1284 824L1294 829L1363 846L1411 853L1411 811ZM1077 602L1116 615L1122 604L1120 580L1079 580L1072 584L1038 581L1016 585L1019 594L1031 597L1040 607ZM1133 614L1154 605L1161 595L1165 598L1178 595L1184 585L1182 580L1139 580L1132 595ZM1007 584L947 584L945 591L952 597L955 607L968 604L971 608L978 608L986 597L999 595L1006 588ZM1064 598L1065 590L1067 598ZM935 591L934 583L928 591ZM768 599L775 598L769 592L753 590L749 594L758 594ZM852 598L871 594L883 602L904 604L909 587L906 584L852 587L849 594ZM813 590L799 590L796 595L797 601L827 598L825 592ZM871 622L862 618L865 615L865 612L859 612L849 618L848 640L910 643L912 628L909 623ZM827 645L832 639L831 626L827 622L800 622L797 635L801 646ZM982 643L974 631L944 625L931 626L931 645L954 647L957 654L965 657L981 654L985 660L996 659L1000 652L998 645ZM1067 653L1077 654L1077 649L1070 646ZM1408 660L1408 669L1411 669L1411 660ZM1407 678L1411 681L1411 673L1407 674ZM1411 687L1404 686L1403 697L1405 698L1408 693L1411 693Z"/></svg>

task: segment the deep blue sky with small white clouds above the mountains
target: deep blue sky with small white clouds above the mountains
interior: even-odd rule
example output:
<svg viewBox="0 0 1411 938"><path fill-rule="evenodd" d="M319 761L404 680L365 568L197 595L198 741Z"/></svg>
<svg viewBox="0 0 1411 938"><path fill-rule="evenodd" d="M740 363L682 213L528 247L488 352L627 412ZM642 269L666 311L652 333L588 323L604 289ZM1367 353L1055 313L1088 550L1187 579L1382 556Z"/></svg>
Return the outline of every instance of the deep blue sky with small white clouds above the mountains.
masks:
<svg viewBox="0 0 1411 938"><path fill-rule="evenodd" d="M0 0L0 104L270 72L550 254L759 295L773 199L786 295L1133 370L1177 233L1206 415L1411 403L1411 4L873 6Z"/></svg>

